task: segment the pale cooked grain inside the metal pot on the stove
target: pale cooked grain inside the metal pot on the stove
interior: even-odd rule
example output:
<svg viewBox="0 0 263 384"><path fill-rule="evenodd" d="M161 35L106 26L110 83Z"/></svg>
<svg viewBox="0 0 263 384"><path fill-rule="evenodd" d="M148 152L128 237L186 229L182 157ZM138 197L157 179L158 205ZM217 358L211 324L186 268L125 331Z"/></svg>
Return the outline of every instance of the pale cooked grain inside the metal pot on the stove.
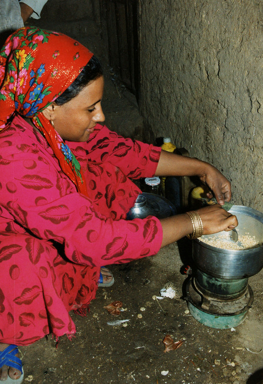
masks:
<svg viewBox="0 0 263 384"><path fill-rule="evenodd" d="M234 250L234 251L257 248L262 245L262 243L258 243L258 241L255 240L254 236L249 236L248 234L243 236L238 236L237 243L232 241L230 238L218 237L215 235L211 235L208 238L204 238L203 236L201 236L200 240L212 247L227 249L227 250Z"/></svg>

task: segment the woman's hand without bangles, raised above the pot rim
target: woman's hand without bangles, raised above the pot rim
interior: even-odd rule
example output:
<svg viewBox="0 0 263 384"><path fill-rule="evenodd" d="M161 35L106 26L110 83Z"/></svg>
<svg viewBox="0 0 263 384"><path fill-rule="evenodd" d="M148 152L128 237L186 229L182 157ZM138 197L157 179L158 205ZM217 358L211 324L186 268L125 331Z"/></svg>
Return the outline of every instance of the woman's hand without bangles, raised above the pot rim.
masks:
<svg viewBox="0 0 263 384"><path fill-rule="evenodd" d="M207 164L207 170L199 177L213 192L213 194L207 194L209 199L214 196L217 203L221 206L224 205L224 202L229 202L231 199L231 183L218 169Z"/></svg>

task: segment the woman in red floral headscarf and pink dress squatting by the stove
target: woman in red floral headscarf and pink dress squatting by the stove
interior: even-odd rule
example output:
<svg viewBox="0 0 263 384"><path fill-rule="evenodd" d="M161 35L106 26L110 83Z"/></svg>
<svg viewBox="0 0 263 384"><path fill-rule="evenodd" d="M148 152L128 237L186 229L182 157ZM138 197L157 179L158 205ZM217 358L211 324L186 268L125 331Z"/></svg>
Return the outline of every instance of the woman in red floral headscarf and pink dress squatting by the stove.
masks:
<svg viewBox="0 0 263 384"><path fill-rule="evenodd" d="M68 312L85 313L101 266L237 221L220 207L231 191L217 169L99 124L102 72L79 43L22 28L0 52L0 77L0 379L20 382L15 346L48 333L72 336ZM130 178L153 174L199 175L219 204L126 221L140 193Z"/></svg>

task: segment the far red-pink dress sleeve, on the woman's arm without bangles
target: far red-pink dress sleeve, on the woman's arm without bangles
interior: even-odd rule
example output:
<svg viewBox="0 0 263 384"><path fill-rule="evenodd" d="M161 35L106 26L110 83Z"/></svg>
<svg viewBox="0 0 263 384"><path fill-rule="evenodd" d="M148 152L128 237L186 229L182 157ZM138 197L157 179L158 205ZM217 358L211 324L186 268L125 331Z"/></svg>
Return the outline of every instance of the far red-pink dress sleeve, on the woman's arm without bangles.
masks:
<svg viewBox="0 0 263 384"><path fill-rule="evenodd" d="M97 124L86 143L69 142L68 146L81 163L110 162L130 178L153 176L159 161L160 147L123 138L107 127Z"/></svg>

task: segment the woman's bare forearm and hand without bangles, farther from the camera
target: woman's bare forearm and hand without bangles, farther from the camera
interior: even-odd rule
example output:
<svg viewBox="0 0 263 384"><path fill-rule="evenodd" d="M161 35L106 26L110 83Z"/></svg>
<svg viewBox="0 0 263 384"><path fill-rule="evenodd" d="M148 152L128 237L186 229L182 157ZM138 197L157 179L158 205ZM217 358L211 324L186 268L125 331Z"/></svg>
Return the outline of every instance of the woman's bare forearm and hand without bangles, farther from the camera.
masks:
<svg viewBox="0 0 263 384"><path fill-rule="evenodd" d="M205 161L161 151L155 171L156 176L199 176L213 191L218 204L231 199L231 183L221 172ZM212 195L209 195L211 198Z"/></svg>

